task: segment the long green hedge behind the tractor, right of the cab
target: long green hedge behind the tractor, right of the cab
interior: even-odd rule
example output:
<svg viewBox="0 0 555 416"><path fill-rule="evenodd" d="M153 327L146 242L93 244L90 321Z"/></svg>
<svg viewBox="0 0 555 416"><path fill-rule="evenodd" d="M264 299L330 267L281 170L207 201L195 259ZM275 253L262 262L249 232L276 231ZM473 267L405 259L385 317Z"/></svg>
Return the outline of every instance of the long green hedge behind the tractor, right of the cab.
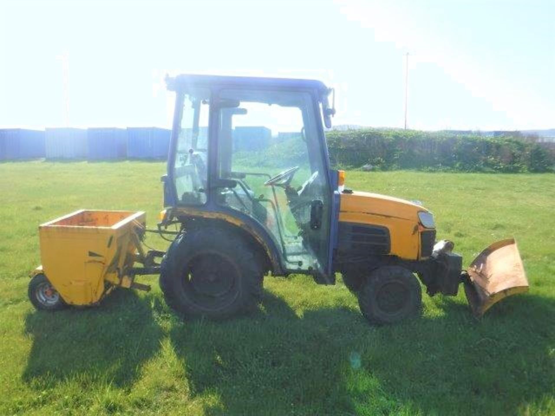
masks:
<svg viewBox="0 0 555 416"><path fill-rule="evenodd" d="M418 130L361 129L326 133L336 168L548 172L555 154L518 133L499 137Z"/></svg>

